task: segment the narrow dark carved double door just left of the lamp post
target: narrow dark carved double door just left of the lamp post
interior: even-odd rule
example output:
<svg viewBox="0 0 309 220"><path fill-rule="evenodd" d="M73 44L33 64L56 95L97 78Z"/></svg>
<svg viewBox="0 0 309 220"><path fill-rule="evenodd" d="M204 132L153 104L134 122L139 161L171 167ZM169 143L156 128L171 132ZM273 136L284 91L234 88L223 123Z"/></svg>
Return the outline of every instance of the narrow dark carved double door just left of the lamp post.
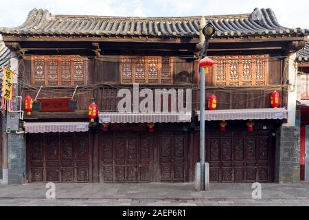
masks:
<svg viewBox="0 0 309 220"><path fill-rule="evenodd" d="M185 181L187 176L187 148L187 133L166 131L159 134L160 181Z"/></svg>

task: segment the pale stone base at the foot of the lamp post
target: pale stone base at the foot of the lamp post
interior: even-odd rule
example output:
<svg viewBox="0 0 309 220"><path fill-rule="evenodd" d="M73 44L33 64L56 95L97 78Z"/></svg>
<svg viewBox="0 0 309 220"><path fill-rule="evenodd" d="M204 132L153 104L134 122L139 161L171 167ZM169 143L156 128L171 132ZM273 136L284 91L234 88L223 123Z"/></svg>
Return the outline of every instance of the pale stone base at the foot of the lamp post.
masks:
<svg viewBox="0 0 309 220"><path fill-rule="evenodd" d="M197 162L195 164L195 175L194 175L194 186L195 186L195 190L200 192L200 191L209 191L209 164L207 162L204 163L204 170L205 170L205 175L204 175L204 179L205 182L202 183L202 179L201 179L201 163ZM204 186L202 188L202 186Z"/></svg>

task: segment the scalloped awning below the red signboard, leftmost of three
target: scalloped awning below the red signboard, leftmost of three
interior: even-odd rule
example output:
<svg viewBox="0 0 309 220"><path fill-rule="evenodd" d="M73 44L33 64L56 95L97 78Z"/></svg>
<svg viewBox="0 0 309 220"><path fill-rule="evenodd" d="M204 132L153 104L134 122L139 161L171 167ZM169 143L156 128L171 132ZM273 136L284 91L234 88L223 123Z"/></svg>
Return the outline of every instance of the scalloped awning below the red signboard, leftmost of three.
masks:
<svg viewBox="0 0 309 220"><path fill-rule="evenodd" d="M25 122L25 133L85 132L89 122Z"/></svg>

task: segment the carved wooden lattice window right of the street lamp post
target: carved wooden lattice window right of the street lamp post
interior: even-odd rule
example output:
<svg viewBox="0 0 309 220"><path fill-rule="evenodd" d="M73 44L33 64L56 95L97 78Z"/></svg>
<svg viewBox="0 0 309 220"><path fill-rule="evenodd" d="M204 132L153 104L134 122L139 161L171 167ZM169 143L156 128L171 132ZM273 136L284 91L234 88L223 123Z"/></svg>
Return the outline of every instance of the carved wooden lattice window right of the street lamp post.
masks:
<svg viewBox="0 0 309 220"><path fill-rule="evenodd" d="M268 55L213 56L213 83L217 86L268 84Z"/></svg>

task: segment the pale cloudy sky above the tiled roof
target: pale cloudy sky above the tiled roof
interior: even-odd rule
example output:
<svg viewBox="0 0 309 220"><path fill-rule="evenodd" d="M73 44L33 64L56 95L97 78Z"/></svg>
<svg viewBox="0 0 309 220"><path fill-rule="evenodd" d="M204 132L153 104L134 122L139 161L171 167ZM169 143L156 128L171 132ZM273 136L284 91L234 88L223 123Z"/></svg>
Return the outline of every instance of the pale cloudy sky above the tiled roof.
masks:
<svg viewBox="0 0 309 220"><path fill-rule="evenodd" d="M32 8L52 14L134 17L242 14L254 8L272 8L288 28L309 29L309 0L0 0L0 27L21 25Z"/></svg>

